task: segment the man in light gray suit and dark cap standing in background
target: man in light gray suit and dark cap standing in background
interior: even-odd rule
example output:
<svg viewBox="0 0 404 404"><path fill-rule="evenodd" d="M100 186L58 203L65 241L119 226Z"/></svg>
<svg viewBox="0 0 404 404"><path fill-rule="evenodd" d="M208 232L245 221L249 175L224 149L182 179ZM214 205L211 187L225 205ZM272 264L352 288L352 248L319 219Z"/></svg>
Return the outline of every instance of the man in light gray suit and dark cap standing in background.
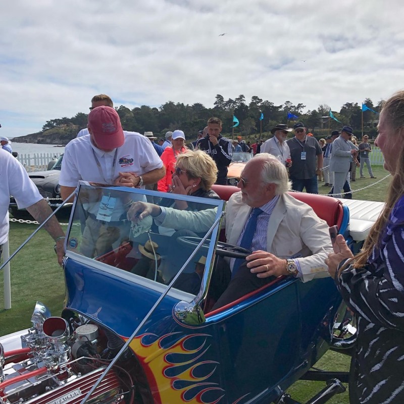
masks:
<svg viewBox="0 0 404 404"><path fill-rule="evenodd" d="M352 156L358 154L358 147L349 141L352 128L344 126L341 134L332 143L330 170L334 171L334 195L341 197L341 191L349 172Z"/></svg>

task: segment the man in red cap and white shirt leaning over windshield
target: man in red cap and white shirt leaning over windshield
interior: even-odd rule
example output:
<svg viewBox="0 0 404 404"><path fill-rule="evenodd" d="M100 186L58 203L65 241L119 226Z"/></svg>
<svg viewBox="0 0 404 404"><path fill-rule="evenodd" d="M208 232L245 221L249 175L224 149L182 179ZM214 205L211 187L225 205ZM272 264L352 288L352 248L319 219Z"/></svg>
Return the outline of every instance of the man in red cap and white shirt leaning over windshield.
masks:
<svg viewBox="0 0 404 404"><path fill-rule="evenodd" d="M111 107L96 107L88 115L89 136L76 137L65 148L59 178L65 200L79 180L144 188L165 175L160 157L147 137L122 130L118 113ZM113 198L111 198L113 199ZM105 224L97 220L99 203L86 211L81 252L95 257L112 244L124 223L120 223L125 201L113 200L111 217ZM100 243L104 244L100 244Z"/></svg>

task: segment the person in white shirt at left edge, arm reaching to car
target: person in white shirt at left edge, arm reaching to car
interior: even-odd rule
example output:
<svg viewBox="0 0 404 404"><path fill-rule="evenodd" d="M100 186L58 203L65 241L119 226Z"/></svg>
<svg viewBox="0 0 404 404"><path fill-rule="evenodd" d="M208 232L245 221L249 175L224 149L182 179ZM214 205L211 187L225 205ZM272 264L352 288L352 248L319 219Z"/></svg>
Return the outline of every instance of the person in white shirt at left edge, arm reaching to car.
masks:
<svg viewBox="0 0 404 404"><path fill-rule="evenodd" d="M25 168L8 151L0 149L0 257L1 247L9 235L10 195L17 201L19 209L26 208L36 221L42 223L52 215L52 209L40 195L38 188L29 178ZM56 217L45 224L44 229L56 241L58 262L62 265L65 234Z"/></svg>

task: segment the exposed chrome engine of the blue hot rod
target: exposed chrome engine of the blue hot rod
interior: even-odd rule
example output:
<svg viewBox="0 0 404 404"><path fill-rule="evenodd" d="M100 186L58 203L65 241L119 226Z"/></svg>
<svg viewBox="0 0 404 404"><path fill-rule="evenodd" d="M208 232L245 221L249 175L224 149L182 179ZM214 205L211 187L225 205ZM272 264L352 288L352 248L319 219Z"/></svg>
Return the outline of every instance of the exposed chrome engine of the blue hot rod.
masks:
<svg viewBox="0 0 404 404"><path fill-rule="evenodd" d="M0 404L79 404L117 354L122 340L80 316L51 317L40 302L31 321L32 328L21 337L22 348L5 351L0 344ZM87 402L133 400L130 372L117 366Z"/></svg>

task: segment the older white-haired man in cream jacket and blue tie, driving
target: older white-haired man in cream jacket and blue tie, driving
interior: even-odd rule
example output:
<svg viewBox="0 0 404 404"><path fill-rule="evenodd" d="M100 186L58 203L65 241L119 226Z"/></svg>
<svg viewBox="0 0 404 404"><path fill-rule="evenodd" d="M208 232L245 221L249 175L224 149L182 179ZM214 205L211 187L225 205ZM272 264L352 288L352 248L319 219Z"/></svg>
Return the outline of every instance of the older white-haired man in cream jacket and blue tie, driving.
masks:
<svg viewBox="0 0 404 404"><path fill-rule="evenodd" d="M231 281L215 308L274 276L291 275L304 282L328 276L324 264L332 252L328 226L309 205L287 193L287 171L277 158L263 153L250 160L237 186L240 192L230 197L222 226L228 243L248 248L252 254L242 263L230 260ZM147 215L165 227L201 232L212 226L216 210L189 212L136 203L128 212L132 221Z"/></svg>

